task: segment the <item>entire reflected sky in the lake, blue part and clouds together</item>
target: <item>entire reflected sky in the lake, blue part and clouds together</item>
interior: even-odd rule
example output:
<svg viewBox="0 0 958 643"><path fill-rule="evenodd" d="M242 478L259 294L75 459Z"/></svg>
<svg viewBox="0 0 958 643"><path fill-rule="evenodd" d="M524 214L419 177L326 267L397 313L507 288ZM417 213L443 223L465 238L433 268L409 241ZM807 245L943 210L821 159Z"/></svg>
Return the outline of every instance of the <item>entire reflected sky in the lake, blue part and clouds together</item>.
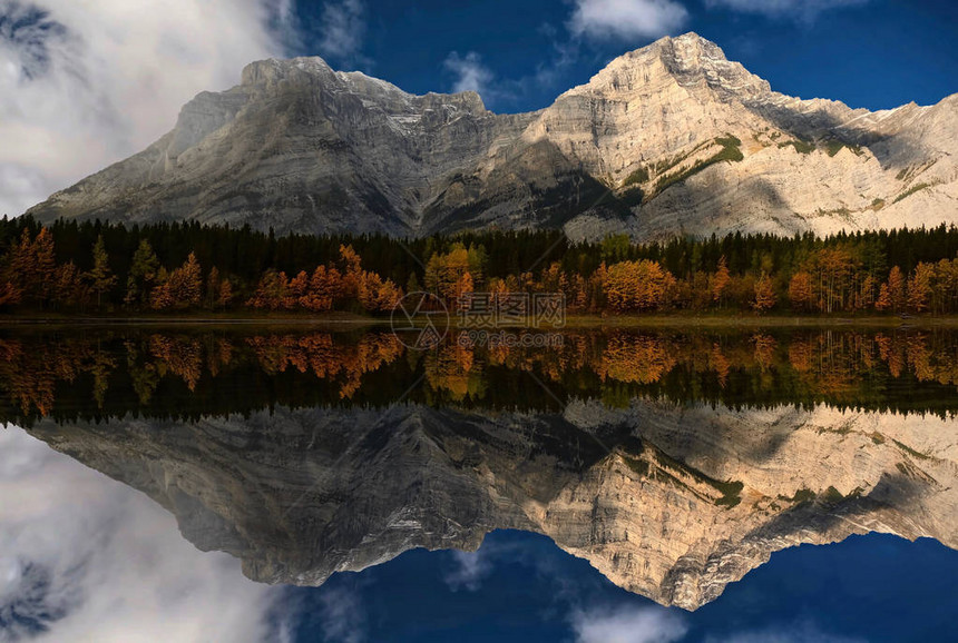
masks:
<svg viewBox="0 0 958 643"><path fill-rule="evenodd" d="M900 643L947 640L958 610L956 552L878 534L775 553L693 613L521 532L317 588L267 586L194 548L146 495L14 426L0 427L0 643Z"/></svg>

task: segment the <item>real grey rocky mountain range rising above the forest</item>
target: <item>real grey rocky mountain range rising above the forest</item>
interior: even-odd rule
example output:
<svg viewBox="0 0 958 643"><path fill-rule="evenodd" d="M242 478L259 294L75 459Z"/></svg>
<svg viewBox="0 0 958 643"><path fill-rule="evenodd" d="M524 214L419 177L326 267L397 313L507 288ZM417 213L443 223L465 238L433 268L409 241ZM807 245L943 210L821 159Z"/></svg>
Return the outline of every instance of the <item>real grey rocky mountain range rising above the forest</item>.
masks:
<svg viewBox="0 0 958 643"><path fill-rule="evenodd" d="M801 100L687 33L530 113L266 60L140 154L29 214L426 235L563 227L827 234L958 222L958 95L887 111Z"/></svg>

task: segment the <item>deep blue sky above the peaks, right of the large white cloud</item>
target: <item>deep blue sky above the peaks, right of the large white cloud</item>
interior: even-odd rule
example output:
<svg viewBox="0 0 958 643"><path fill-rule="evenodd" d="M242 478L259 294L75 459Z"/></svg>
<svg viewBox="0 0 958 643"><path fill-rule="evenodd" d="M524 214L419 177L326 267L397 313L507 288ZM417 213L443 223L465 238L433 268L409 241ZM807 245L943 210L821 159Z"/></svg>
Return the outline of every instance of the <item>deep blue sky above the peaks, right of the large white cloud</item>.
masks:
<svg viewBox="0 0 958 643"><path fill-rule="evenodd" d="M616 56L685 31L802 98L882 109L958 91L954 1L333 0L295 13L291 53L416 93L471 86L496 111L546 107Z"/></svg>

